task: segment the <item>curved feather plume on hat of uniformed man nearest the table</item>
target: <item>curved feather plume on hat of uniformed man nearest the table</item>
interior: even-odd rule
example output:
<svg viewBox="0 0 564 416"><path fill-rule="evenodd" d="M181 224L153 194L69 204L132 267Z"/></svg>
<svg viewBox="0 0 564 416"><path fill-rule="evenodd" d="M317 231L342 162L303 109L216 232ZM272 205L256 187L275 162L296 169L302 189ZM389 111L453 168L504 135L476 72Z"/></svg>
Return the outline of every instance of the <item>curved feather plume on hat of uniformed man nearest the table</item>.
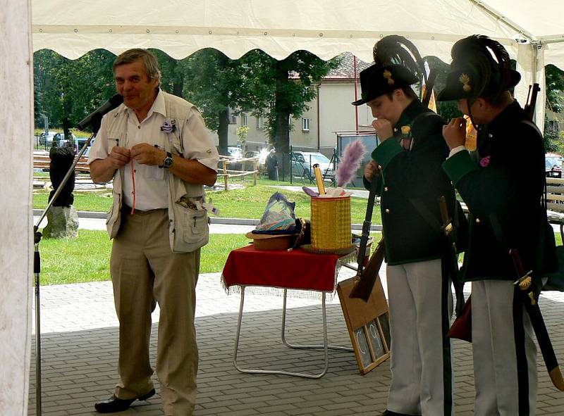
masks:
<svg viewBox="0 0 564 416"><path fill-rule="evenodd" d="M426 77L419 51L410 40L403 36L391 34L383 37L374 44L372 56L376 65L402 65L419 80Z"/></svg>

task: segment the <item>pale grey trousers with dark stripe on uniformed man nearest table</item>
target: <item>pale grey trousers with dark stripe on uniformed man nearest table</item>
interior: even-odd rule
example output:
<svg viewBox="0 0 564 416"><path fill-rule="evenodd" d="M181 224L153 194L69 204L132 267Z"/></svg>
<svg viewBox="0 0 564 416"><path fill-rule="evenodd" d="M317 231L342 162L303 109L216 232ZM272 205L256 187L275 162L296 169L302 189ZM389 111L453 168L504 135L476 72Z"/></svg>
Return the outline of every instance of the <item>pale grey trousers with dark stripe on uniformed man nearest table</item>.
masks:
<svg viewBox="0 0 564 416"><path fill-rule="evenodd" d="M453 374L446 331L453 313L450 282L441 260L386 268L391 332L388 410L450 416Z"/></svg>

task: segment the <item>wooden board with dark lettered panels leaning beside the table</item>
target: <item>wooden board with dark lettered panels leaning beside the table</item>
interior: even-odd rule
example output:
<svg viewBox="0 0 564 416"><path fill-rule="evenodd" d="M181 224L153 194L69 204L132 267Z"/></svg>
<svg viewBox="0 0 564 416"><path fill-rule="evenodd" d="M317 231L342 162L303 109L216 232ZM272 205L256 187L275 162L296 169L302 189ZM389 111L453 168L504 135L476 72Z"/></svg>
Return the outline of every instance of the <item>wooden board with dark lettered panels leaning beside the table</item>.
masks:
<svg viewBox="0 0 564 416"><path fill-rule="evenodd" d="M380 278L374 282L367 302L350 298L357 277L343 280L337 293L347 322L360 374L367 374L390 356L390 323L388 302Z"/></svg>

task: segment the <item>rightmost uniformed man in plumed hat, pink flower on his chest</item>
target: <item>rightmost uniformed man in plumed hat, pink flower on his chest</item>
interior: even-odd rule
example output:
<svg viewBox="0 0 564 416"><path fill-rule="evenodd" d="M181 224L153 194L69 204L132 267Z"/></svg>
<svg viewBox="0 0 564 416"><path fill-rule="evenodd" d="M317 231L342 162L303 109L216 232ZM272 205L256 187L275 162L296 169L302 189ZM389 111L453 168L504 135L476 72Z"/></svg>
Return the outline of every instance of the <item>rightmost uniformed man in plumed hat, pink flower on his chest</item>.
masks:
<svg viewBox="0 0 564 416"><path fill-rule="evenodd" d="M520 75L507 51L487 37L458 41L439 100L458 100L477 127L477 151L465 150L466 122L455 118L443 135L443 168L470 210L464 279L472 282L474 415L534 415L537 351L510 249L532 270L535 294L554 263L554 235L543 215L541 134L508 91Z"/></svg>

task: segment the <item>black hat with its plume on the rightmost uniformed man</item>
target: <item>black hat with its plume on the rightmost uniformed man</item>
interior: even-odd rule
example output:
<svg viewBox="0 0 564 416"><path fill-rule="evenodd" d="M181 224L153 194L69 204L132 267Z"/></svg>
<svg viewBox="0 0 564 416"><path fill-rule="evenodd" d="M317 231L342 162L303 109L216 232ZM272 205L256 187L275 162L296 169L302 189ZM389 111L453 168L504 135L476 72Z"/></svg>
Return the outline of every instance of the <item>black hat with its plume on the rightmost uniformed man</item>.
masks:
<svg viewBox="0 0 564 416"><path fill-rule="evenodd" d="M498 96L521 80L520 73L510 67L505 48L484 35L460 39L450 56L453 61L437 101Z"/></svg>

